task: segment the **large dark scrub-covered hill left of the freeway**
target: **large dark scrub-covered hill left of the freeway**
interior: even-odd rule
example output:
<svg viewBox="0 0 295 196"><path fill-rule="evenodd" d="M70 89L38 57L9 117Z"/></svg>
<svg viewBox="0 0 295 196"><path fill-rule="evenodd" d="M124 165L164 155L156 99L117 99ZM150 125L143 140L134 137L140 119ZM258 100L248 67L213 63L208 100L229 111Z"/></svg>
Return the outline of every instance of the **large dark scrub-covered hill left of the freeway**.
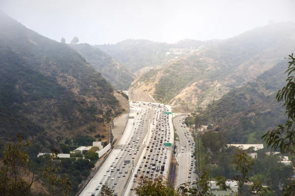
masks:
<svg viewBox="0 0 295 196"><path fill-rule="evenodd" d="M66 44L0 12L0 132L54 140L100 133L121 113L114 88Z"/></svg>

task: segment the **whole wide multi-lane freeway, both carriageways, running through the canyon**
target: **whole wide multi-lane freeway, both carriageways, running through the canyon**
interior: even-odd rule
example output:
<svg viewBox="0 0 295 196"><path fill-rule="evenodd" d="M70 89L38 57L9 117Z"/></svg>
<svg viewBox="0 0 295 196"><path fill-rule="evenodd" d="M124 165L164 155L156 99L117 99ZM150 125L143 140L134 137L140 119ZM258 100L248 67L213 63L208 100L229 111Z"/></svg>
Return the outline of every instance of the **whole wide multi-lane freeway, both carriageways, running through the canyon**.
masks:
<svg viewBox="0 0 295 196"><path fill-rule="evenodd" d="M171 108L163 104L130 102L129 116L134 119L128 119L116 149L80 196L98 196L103 184L112 187L115 195L132 196L140 175L167 177L172 147L165 147L165 143L173 143L174 138L171 115L164 114L168 110ZM173 126L171 130L173 133ZM160 171L162 165L164 171Z"/></svg>

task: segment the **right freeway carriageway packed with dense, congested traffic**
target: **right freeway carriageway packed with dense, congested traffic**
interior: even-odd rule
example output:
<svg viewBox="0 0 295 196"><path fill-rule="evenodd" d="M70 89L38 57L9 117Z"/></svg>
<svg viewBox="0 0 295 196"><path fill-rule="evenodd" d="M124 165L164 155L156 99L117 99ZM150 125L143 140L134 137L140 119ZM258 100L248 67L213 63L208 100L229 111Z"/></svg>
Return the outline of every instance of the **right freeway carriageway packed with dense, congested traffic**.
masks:
<svg viewBox="0 0 295 196"><path fill-rule="evenodd" d="M156 107L152 107L155 109L155 113L146 136L145 150L135 167L124 196L135 195L134 188L138 186L139 179L134 177L135 174L149 179L158 176L167 178L168 176L172 147L165 147L165 143L173 143L174 134L171 115L166 115L164 112L171 111L171 108L163 104L156 104ZM162 166L164 166L164 171L161 171Z"/></svg>

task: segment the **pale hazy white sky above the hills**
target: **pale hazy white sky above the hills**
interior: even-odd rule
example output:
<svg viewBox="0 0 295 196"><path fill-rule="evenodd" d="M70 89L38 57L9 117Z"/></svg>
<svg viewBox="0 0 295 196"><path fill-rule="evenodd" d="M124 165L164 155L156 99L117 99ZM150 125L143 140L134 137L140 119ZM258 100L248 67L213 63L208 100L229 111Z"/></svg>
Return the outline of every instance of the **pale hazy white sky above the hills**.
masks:
<svg viewBox="0 0 295 196"><path fill-rule="evenodd" d="M29 29L90 44L229 38L269 19L295 22L294 8L295 0L0 0Z"/></svg>

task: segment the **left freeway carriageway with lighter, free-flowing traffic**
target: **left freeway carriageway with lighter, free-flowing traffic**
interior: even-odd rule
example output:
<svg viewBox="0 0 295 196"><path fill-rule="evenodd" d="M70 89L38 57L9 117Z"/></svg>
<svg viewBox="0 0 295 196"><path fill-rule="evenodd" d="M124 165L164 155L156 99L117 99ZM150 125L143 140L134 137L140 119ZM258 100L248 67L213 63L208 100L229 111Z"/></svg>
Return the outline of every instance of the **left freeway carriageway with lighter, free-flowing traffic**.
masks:
<svg viewBox="0 0 295 196"><path fill-rule="evenodd" d="M131 103L130 103L130 106L131 107L130 107L129 116L135 116L135 119L128 120L124 133L121 136L120 140L118 141L117 148L112 150L112 152L110 153L105 163L102 165L99 171L95 174L95 176L90 180L89 184L80 194L80 196L91 196L92 193L94 193L95 196L98 195L101 188L98 186L105 183L108 183L109 186L113 186L114 184L117 184L114 187L114 190L116 193L116 191L118 191L118 189L116 190L116 187L122 187L122 185L124 184L123 178L127 178L128 175L130 175L131 165L130 166L124 165L123 161L134 160L132 159L132 157L135 158L137 156L136 154L139 151L139 146L140 146L139 144L140 142L143 141L144 134L146 134L146 129L144 128L147 127L147 123L143 121L143 119L146 119L148 116L144 114L145 108L142 108L138 105L132 105ZM139 112L140 114L136 115L137 112ZM138 123L136 123L136 121L138 121ZM137 133L134 134L133 132L135 129L138 131ZM134 134L133 138L131 138L132 134ZM141 137L140 141L139 143L136 143L137 138L139 137ZM114 169L114 172L111 172L111 168ZM118 168L119 170L117 171ZM109 171L107 172L107 170ZM128 173L125 174L126 170L128 171ZM120 175L120 177L118 177L118 175ZM123 175L125 175L126 177L123 177ZM99 190L95 190L96 187L98 187Z"/></svg>

